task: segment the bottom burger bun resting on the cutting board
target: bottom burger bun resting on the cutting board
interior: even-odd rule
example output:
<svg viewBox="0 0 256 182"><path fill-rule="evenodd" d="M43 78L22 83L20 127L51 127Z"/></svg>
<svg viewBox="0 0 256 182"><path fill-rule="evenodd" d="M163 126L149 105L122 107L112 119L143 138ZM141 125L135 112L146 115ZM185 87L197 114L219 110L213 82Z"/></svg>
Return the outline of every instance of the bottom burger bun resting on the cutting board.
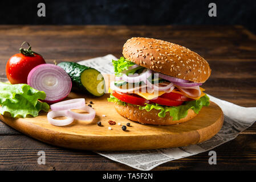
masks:
<svg viewBox="0 0 256 182"><path fill-rule="evenodd" d="M115 109L117 113L122 115L125 118L128 118L132 121L137 121L142 124L151 124L151 125L174 125L177 123L183 123L189 121L197 114L194 113L192 109L188 110L188 115L185 118L180 120L172 121L172 117L170 117L169 112L165 114L164 118L160 118L158 116L159 110L152 109L151 111L147 111L145 109L140 110L139 106L127 104L125 106L118 105L115 103Z"/></svg>

